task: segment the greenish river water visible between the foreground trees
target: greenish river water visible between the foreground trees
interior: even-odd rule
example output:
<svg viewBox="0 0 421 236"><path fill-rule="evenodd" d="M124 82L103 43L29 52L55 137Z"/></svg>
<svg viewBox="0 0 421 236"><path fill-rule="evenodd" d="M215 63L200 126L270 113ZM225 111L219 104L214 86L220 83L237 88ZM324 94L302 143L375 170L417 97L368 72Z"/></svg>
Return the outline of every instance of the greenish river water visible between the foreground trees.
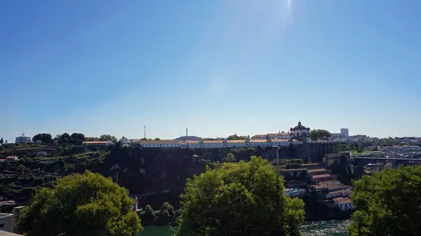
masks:
<svg viewBox="0 0 421 236"><path fill-rule="evenodd" d="M307 222L301 227L301 233L304 236L346 236L347 225L346 221L312 221ZM171 236L173 231L169 226L147 226L139 236Z"/></svg>

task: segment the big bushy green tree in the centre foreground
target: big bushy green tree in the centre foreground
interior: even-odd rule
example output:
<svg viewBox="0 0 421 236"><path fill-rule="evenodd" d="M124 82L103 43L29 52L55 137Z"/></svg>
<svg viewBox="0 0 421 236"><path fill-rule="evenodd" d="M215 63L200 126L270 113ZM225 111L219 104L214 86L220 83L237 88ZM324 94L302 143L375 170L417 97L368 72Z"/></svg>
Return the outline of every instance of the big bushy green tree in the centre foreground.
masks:
<svg viewBox="0 0 421 236"><path fill-rule="evenodd" d="M304 223L304 203L283 194L283 178L262 158L206 167L181 198L176 236L293 236Z"/></svg>

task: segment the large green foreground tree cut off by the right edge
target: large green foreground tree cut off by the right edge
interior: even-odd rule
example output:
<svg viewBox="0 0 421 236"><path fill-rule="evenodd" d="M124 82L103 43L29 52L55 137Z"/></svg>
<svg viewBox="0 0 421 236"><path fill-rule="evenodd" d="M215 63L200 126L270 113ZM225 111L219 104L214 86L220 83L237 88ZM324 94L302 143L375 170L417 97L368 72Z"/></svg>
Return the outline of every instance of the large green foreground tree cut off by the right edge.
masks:
<svg viewBox="0 0 421 236"><path fill-rule="evenodd" d="M421 235L421 166L363 176L352 199L351 235Z"/></svg>

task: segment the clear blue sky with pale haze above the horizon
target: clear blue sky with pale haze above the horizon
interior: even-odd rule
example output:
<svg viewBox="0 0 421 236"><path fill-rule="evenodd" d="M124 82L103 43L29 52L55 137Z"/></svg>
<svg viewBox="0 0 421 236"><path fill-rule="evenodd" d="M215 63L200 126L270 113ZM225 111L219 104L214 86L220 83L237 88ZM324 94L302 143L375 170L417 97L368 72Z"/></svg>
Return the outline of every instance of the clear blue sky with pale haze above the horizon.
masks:
<svg viewBox="0 0 421 236"><path fill-rule="evenodd" d="M421 136L421 1L0 1L0 137Z"/></svg>

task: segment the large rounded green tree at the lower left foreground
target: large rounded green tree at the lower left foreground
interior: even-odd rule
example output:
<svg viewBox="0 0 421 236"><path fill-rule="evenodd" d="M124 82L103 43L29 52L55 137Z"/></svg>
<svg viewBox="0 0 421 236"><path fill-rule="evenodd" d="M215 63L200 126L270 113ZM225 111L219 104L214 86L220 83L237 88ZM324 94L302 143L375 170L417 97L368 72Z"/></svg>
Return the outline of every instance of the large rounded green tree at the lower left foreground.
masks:
<svg viewBox="0 0 421 236"><path fill-rule="evenodd" d="M136 235L142 225L133 203L112 179L73 174L37 191L19 224L28 236Z"/></svg>

